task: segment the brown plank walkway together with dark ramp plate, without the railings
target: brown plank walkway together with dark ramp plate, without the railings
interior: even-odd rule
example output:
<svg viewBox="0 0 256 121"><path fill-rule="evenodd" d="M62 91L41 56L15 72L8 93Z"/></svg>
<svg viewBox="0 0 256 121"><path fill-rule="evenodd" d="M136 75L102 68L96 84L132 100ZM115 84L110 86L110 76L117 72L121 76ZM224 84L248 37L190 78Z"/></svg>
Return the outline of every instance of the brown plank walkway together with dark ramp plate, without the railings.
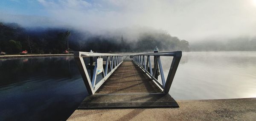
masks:
<svg viewBox="0 0 256 121"><path fill-rule="evenodd" d="M132 61L124 61L78 109L179 107Z"/></svg>

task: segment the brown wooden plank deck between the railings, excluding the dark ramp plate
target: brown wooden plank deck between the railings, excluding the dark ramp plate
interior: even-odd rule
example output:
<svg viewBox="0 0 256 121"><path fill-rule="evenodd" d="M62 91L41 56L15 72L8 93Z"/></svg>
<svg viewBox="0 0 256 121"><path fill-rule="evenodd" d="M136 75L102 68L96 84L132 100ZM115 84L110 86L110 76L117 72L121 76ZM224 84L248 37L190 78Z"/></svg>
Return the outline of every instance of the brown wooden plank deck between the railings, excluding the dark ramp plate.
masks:
<svg viewBox="0 0 256 121"><path fill-rule="evenodd" d="M162 93L156 84L132 61L124 61L95 94Z"/></svg>

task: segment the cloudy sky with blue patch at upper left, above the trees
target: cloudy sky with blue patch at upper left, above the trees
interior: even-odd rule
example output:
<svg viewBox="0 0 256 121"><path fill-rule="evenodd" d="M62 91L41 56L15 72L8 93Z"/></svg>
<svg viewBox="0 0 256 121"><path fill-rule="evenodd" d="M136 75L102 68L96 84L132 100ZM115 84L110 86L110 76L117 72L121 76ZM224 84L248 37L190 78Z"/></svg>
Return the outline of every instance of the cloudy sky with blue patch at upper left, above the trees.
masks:
<svg viewBox="0 0 256 121"><path fill-rule="evenodd" d="M256 0L0 0L0 21L92 32L153 28L189 42L256 37Z"/></svg>

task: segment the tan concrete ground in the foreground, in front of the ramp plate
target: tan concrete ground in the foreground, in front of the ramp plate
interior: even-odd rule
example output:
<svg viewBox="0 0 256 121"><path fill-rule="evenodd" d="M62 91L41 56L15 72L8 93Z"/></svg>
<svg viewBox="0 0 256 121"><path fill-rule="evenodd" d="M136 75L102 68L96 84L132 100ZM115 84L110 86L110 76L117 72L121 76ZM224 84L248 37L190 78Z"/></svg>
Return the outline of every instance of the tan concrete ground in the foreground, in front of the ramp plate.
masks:
<svg viewBox="0 0 256 121"><path fill-rule="evenodd" d="M256 121L256 98L177 103L180 108L76 110L68 121Z"/></svg>

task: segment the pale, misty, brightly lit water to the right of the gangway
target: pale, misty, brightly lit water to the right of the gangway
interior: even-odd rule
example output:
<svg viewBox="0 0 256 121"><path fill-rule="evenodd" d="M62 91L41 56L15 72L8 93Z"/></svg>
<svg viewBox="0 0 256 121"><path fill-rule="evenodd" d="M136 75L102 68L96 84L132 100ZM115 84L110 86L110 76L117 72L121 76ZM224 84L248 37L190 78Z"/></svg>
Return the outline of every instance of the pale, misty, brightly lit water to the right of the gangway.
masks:
<svg viewBox="0 0 256 121"><path fill-rule="evenodd" d="M165 75L169 60L162 59ZM175 99L256 97L256 52L183 53L170 94Z"/></svg>

